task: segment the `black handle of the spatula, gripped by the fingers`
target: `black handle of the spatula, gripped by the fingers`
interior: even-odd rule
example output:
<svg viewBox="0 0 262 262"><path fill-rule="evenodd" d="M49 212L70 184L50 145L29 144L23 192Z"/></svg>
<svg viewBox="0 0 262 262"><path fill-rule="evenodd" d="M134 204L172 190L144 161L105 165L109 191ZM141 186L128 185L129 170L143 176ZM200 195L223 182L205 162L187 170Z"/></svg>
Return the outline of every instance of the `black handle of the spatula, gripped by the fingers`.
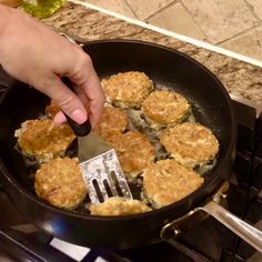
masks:
<svg viewBox="0 0 262 262"><path fill-rule="evenodd" d="M75 90L73 89L73 85L70 79L62 78L62 81L71 91L75 93ZM67 117L69 125L71 127L71 129L73 130L77 137L84 137L91 132L92 127L89 122L89 119L84 123L79 124L75 121L73 121L68 114L66 114L66 117Z"/></svg>

